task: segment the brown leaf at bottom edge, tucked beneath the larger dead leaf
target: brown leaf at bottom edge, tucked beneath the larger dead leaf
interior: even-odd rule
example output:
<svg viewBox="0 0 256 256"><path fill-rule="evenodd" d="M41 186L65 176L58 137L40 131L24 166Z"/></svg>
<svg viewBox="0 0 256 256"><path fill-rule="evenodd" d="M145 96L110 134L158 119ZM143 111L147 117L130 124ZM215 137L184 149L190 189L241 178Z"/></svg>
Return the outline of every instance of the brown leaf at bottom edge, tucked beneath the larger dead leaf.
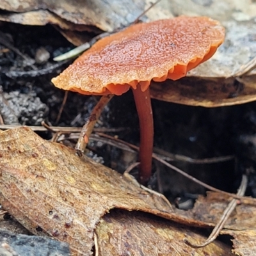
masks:
<svg viewBox="0 0 256 256"><path fill-rule="evenodd" d="M198 243L205 237L188 227L180 227L142 212L111 211L96 228L100 256L113 255L233 255L231 248L218 241L194 249L184 243L193 238Z"/></svg>

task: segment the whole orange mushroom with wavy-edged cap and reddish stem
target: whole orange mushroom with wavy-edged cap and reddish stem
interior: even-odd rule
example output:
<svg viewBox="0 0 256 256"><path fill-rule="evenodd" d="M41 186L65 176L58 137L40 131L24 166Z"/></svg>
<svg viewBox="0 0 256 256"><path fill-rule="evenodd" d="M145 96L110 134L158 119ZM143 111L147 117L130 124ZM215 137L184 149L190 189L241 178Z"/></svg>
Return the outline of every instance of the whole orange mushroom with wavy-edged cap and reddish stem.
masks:
<svg viewBox="0 0 256 256"><path fill-rule="evenodd" d="M208 60L225 29L209 17L134 24L99 40L52 83L85 95L121 95L132 88L140 120L140 182L151 175L153 116L150 81L176 80Z"/></svg>

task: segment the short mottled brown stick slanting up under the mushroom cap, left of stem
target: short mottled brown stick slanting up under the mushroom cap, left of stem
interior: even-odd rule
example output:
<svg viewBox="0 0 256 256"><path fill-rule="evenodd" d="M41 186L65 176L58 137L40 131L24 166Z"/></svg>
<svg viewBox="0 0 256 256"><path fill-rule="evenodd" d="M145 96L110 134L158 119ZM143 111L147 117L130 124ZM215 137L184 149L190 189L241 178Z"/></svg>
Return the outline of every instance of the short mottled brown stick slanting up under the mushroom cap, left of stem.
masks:
<svg viewBox="0 0 256 256"><path fill-rule="evenodd" d="M88 118L86 124L84 124L82 131L80 132L79 139L76 143L75 148L78 156L83 156L84 149L86 148L89 137L93 131L93 127L99 119L99 116L105 108L106 104L108 104L109 100L111 100L113 96L113 94L102 96L99 102L93 108L93 111L90 114L90 117Z"/></svg>

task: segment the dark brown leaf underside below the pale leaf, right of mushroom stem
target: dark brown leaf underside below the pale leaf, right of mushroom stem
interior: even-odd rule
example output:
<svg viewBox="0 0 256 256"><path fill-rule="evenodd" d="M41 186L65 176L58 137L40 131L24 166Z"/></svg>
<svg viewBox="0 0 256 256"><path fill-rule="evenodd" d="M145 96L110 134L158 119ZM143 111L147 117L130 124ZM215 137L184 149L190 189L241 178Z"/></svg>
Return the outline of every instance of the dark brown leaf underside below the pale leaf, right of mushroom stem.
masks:
<svg viewBox="0 0 256 256"><path fill-rule="evenodd" d="M234 78L184 77L177 81L152 82L150 95L154 99L189 106L232 106L256 100L256 77L248 76L240 85Z"/></svg>

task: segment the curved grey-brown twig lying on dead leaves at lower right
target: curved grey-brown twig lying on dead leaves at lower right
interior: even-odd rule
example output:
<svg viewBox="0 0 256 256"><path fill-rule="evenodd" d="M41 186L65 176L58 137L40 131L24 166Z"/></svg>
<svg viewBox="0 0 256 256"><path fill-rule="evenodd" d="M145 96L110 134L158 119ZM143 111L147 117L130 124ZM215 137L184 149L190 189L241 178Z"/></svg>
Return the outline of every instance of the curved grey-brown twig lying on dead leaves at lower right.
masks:
<svg viewBox="0 0 256 256"><path fill-rule="evenodd" d="M237 191L237 195L239 196L243 196L247 187L247 182L248 179L246 177L246 175L243 175L242 181L241 181L241 185ZM189 246L191 246L192 248L202 248L207 246L208 244L212 243L216 237L219 236L221 229L224 227L226 221L228 220L230 214L232 214L232 212L234 211L234 209L236 208L237 205L237 200L236 199L232 199L231 202L228 204L227 208L225 209L225 211L223 212L220 221L217 223L217 225L214 227L214 229L211 232L211 235L207 238L207 240L202 243L202 244L193 244L191 242L188 241L188 239L184 239L184 242L186 244L188 244Z"/></svg>

